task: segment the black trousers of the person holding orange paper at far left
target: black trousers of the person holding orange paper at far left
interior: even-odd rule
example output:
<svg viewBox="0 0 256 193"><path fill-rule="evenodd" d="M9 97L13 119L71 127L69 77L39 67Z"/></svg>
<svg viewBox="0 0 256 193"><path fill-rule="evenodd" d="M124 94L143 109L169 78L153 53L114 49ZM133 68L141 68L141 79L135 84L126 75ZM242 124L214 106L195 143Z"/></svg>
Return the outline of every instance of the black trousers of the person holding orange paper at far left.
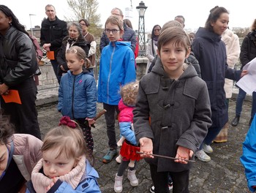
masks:
<svg viewBox="0 0 256 193"><path fill-rule="evenodd" d="M15 125L15 132L34 135L41 139L37 121L37 86L34 78L30 77L18 86L10 87L9 90L18 90L21 105L15 102L5 103L1 97L1 108L4 114L10 115L10 121Z"/></svg>

